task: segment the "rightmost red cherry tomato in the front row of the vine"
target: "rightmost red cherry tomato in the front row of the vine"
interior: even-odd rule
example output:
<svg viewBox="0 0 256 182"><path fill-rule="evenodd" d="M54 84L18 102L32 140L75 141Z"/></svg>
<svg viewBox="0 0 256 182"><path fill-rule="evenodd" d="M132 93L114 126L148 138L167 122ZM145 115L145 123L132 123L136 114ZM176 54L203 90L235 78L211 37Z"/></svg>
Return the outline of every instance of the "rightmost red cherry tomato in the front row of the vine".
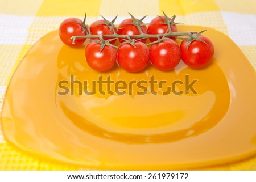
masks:
<svg viewBox="0 0 256 182"><path fill-rule="evenodd" d="M214 54L212 41L203 35L199 35L198 38L204 40L207 44L199 40L193 40L189 44L188 49L188 41L183 40L180 44L181 59L192 68L207 66L211 62Z"/></svg>

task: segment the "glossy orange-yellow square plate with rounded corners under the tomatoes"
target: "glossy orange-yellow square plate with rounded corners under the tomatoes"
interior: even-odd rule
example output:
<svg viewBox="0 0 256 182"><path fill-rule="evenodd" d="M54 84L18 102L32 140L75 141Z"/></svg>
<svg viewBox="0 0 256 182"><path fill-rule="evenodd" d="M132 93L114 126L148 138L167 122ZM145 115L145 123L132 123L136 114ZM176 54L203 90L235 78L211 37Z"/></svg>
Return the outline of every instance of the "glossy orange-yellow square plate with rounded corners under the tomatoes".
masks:
<svg viewBox="0 0 256 182"><path fill-rule="evenodd" d="M151 65L141 73L127 73L117 65L107 73L89 68L85 46L63 45L57 31L42 37L28 51L6 92L2 129L7 141L46 159L108 170L173 170L234 162L256 152L256 75L232 40L214 29L201 31L214 44L212 64L194 70L181 62L174 71ZM60 81L76 81L73 94ZM187 76L186 76L187 75ZM111 77L130 83L150 77L176 80L183 94L163 95L163 86L145 95L134 87L125 95L88 95L93 81ZM185 93L185 78L197 80L197 94ZM82 84L79 88L78 81ZM66 85L71 90L72 83ZM150 85L144 84L151 89ZM85 87L85 88L84 88ZM105 85L103 91L115 91ZM82 91L82 94L79 93Z"/></svg>

